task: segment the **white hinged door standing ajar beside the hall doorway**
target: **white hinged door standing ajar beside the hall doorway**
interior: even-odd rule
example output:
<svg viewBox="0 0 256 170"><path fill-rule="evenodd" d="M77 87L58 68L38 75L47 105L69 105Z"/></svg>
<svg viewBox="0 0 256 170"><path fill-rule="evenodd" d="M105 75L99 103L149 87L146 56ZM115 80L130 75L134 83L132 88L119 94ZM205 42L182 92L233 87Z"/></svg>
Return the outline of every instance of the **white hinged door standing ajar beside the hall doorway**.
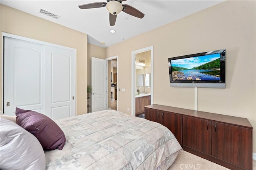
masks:
<svg viewBox="0 0 256 170"><path fill-rule="evenodd" d="M107 109L107 61L92 57L92 112Z"/></svg>

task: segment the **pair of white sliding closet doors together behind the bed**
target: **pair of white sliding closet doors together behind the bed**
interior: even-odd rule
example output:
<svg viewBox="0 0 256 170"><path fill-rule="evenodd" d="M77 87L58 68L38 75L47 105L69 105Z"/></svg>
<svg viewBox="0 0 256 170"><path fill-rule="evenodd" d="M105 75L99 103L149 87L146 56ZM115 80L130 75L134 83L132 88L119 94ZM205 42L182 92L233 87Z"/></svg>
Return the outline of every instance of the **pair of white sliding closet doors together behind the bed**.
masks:
<svg viewBox="0 0 256 170"><path fill-rule="evenodd" d="M4 113L15 115L19 107L52 119L76 115L75 57L72 50L5 37Z"/></svg>

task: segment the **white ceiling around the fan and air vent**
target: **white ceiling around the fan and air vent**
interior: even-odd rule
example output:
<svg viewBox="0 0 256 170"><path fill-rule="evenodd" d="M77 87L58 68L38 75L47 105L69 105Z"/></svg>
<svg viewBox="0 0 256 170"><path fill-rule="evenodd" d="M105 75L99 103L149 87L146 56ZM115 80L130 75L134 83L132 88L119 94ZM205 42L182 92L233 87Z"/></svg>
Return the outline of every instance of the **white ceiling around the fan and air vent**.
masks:
<svg viewBox="0 0 256 170"><path fill-rule="evenodd" d="M128 4L145 14L139 19L120 12L114 26L109 25L106 7L80 9L78 5L106 0L1 0L1 4L34 16L64 25L88 35L88 43L109 47L172 21L178 20L223 0L127 0ZM60 16L58 20L40 14L40 9ZM110 33L114 29L116 33ZM102 45L100 42L104 42Z"/></svg>

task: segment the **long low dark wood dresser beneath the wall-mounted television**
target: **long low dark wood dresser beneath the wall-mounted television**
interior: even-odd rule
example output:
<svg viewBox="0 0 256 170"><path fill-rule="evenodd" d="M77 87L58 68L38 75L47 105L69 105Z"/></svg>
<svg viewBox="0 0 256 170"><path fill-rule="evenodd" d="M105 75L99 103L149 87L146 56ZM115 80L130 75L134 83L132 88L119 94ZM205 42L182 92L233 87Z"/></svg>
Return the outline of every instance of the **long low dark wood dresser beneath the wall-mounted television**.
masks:
<svg viewBox="0 0 256 170"><path fill-rule="evenodd" d="M152 104L145 107L145 119L170 129L187 152L252 170L252 125L246 118Z"/></svg>

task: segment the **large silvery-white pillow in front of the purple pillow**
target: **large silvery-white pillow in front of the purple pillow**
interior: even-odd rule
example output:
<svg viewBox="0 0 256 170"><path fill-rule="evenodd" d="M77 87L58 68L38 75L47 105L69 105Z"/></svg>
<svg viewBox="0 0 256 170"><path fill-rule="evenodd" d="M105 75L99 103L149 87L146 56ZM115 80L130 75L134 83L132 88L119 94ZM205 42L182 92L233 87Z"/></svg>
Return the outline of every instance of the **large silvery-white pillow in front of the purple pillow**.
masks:
<svg viewBox="0 0 256 170"><path fill-rule="evenodd" d="M34 135L0 117L0 137L1 170L45 170L44 150Z"/></svg>

